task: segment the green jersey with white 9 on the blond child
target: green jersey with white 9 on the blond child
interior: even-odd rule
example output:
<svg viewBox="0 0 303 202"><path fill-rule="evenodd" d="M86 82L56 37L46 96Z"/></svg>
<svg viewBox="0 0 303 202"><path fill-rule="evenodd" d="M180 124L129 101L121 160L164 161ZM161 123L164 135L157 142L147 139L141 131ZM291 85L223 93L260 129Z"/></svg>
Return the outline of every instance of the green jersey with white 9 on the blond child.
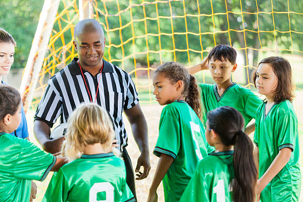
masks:
<svg viewBox="0 0 303 202"><path fill-rule="evenodd" d="M83 154L63 165L51 178L43 199L43 202L99 201L135 202L126 184L125 164L112 152Z"/></svg>

